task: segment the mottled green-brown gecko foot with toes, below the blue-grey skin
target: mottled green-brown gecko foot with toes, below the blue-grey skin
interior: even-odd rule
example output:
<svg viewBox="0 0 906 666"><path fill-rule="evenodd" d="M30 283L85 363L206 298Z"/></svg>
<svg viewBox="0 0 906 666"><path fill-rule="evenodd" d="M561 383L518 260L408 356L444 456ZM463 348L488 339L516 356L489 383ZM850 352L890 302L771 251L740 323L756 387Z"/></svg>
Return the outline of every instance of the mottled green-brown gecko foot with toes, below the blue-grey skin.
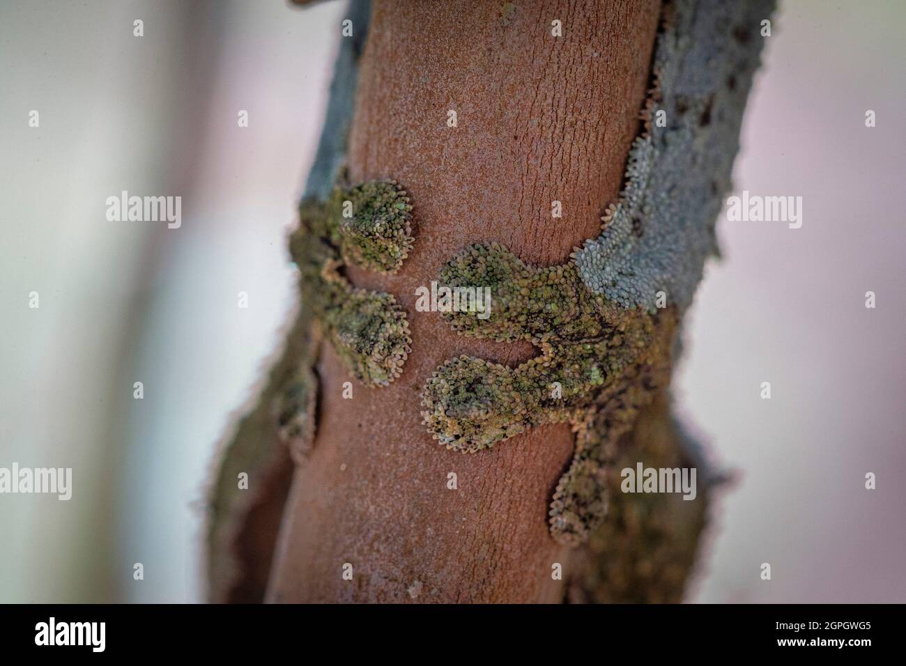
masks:
<svg viewBox="0 0 906 666"><path fill-rule="evenodd" d="M555 539L580 543L604 515L603 444L631 425L660 384L655 380L669 376L674 311L614 307L584 285L572 261L535 268L496 243L453 257L439 282L491 289L487 319L444 314L454 330L526 340L541 353L516 368L469 356L444 363L422 392L429 431L448 449L474 453L535 426L572 422L577 446L550 522ZM586 425L600 410L612 414L612 426L591 432Z"/></svg>

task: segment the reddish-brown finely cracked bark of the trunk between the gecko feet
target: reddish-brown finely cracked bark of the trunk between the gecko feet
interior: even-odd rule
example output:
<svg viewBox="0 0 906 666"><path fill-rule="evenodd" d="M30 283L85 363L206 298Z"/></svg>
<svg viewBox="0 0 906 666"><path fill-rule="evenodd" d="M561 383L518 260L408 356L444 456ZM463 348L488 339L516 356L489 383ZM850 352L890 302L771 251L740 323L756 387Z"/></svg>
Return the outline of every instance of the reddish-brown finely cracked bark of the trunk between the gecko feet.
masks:
<svg viewBox="0 0 906 666"><path fill-rule="evenodd" d="M356 384L344 400L351 378L325 345L318 434L295 471L272 601L563 598L551 565L568 553L548 534L547 507L572 449L568 426L463 455L430 439L419 415L424 382L449 357L516 363L534 350L457 336L438 314L415 311L415 290L473 242L553 264L597 234L638 131L658 14L655 0L532 0L512 11L376 3L350 176L409 190L416 246L398 275L349 275L406 308L412 353L390 387ZM554 19L562 37L551 34ZM458 127L448 127L449 110ZM554 200L562 218L551 217Z"/></svg>

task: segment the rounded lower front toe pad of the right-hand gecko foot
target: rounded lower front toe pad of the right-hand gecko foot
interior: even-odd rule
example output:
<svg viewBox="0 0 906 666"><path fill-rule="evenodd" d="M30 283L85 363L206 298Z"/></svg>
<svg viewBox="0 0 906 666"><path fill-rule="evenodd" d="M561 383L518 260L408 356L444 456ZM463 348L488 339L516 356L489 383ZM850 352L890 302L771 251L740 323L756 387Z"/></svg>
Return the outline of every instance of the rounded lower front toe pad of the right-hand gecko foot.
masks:
<svg viewBox="0 0 906 666"><path fill-rule="evenodd" d="M521 403L510 368L459 356L430 376L422 391L421 414L441 444L474 453L525 430L518 418Z"/></svg>

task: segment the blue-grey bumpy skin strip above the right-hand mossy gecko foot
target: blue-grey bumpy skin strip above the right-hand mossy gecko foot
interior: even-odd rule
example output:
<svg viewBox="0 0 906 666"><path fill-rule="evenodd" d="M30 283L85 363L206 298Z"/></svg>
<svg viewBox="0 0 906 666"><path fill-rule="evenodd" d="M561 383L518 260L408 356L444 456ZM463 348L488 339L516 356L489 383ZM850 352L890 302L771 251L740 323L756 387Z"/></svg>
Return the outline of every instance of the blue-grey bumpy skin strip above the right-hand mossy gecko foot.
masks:
<svg viewBox="0 0 906 666"><path fill-rule="evenodd" d="M730 189L739 128L773 0L677 0L665 5L655 86L642 108L622 196L603 233L575 254L583 281L625 308L664 291L689 305Z"/></svg>

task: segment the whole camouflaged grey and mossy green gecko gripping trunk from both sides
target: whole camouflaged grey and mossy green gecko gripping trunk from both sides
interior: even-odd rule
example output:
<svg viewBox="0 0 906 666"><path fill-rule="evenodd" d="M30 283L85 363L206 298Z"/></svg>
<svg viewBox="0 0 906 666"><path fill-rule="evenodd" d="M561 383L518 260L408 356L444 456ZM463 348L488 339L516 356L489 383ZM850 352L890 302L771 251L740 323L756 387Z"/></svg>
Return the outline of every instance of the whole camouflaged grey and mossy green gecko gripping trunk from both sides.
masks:
<svg viewBox="0 0 906 666"><path fill-rule="evenodd" d="M602 234L577 248L568 263L529 267L501 246L481 244L445 269L451 283L496 280L500 288L489 320L449 314L461 333L529 340L541 355L513 369L469 357L446 363L423 394L429 428L441 443L474 451L542 423L573 423L575 452L551 504L551 529L568 544L588 537L595 565L583 594L595 601L679 601L694 560L703 502L672 506L667 496L616 496L605 516L607 489L617 466L642 455L666 466L704 465L701 459L677 457L689 447L664 437L671 426L668 407L659 401L669 381L673 331L706 257L716 250L713 222L729 188L742 111L763 43L758 26L773 5L772 0L664 2L652 67L655 85L643 109L645 131L632 145L622 196L607 209ZM212 493L209 554L215 589L225 587L223 572L233 566L227 551L236 542L234 524L249 522L247 513L240 516L245 509L236 471L262 468L277 448L278 429L279 439L302 453L313 437L313 368L322 334L369 385L392 381L408 353L408 327L392 297L355 290L342 277L343 263L371 262L368 267L392 270L410 245L404 240L406 225L393 231L382 227L371 237L367 225L344 228L336 195L330 196L345 156L367 34L367 4L353 2L352 10L358 12L358 29L342 40L307 186L313 198L331 201L306 200L305 231L293 238L303 308L258 406L227 447ZM395 200L390 190L382 191ZM382 255L380 247L390 254ZM564 294L554 294L554 285ZM657 311L659 292L668 296L670 307ZM347 298L357 305L345 304ZM640 409L649 414L643 422ZM658 418L651 417L652 410ZM267 555L261 561L270 562ZM663 595L665 580L670 594Z"/></svg>

